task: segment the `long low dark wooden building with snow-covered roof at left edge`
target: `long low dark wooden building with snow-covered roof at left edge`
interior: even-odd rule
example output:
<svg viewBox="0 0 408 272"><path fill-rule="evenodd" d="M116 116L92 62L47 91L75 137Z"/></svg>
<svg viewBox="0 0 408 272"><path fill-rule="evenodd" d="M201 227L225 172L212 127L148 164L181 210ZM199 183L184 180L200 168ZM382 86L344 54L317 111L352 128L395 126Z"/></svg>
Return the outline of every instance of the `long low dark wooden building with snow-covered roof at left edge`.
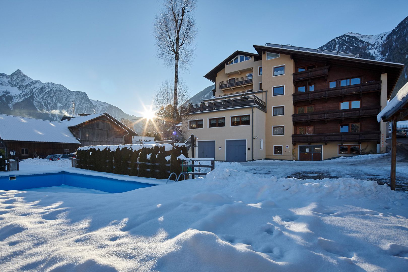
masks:
<svg viewBox="0 0 408 272"><path fill-rule="evenodd" d="M0 148L19 159L69 154L80 146L62 122L0 114Z"/></svg>

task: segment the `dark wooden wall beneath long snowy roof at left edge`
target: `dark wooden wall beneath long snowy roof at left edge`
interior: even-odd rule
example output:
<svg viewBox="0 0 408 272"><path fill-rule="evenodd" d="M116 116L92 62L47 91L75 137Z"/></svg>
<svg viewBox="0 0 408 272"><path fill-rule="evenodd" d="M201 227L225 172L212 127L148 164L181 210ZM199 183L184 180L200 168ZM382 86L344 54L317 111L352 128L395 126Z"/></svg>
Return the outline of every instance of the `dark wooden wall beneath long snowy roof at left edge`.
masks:
<svg viewBox="0 0 408 272"><path fill-rule="evenodd" d="M26 141L7 141L2 140L2 148L5 148L6 154L10 150L16 151L15 157L19 159L33 158L34 153L38 156L48 156L53 154L69 154L74 152L80 144L67 143L48 143L48 142L26 142ZM28 149L28 155L22 155L22 148Z"/></svg>

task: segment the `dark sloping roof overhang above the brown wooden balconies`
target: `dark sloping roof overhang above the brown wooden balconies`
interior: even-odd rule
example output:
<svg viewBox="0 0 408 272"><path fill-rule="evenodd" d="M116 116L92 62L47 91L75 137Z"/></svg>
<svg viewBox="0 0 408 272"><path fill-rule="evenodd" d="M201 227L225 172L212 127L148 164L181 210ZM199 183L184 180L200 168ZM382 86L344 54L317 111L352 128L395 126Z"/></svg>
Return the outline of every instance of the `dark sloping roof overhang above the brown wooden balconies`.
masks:
<svg viewBox="0 0 408 272"><path fill-rule="evenodd" d="M296 49L279 48L275 46L254 45L255 50L260 56L266 51L271 53L281 53L290 55L292 59L314 60L322 63L333 63L343 66L353 66L362 69L377 70L381 73L387 73L387 97L389 98L392 89L395 87L404 64L394 62L382 62L379 60L369 60L357 57L348 57L341 55L317 53L310 51L301 51Z"/></svg>

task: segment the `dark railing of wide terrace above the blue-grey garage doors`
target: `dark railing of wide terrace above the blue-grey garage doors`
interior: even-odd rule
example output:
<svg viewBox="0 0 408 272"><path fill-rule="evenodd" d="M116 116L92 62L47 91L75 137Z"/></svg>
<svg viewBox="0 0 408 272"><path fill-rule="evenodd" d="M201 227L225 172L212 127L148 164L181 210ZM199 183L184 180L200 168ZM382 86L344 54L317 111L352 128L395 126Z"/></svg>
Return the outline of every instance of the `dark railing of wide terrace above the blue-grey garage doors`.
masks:
<svg viewBox="0 0 408 272"><path fill-rule="evenodd" d="M246 106L256 106L260 110L266 112L266 103L256 95L251 95L233 99L203 102L200 104L190 104L181 108L181 114L218 111L226 108L239 108Z"/></svg>

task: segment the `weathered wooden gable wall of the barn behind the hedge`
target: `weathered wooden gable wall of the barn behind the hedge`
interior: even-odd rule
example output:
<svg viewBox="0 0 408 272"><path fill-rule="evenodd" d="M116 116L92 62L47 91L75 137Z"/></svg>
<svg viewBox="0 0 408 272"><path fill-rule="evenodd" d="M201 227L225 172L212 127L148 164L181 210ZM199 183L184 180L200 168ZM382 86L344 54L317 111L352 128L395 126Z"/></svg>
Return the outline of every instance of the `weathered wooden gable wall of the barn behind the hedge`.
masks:
<svg viewBox="0 0 408 272"><path fill-rule="evenodd" d="M78 126L71 131L81 146L132 144L132 135L106 117L99 117Z"/></svg>

